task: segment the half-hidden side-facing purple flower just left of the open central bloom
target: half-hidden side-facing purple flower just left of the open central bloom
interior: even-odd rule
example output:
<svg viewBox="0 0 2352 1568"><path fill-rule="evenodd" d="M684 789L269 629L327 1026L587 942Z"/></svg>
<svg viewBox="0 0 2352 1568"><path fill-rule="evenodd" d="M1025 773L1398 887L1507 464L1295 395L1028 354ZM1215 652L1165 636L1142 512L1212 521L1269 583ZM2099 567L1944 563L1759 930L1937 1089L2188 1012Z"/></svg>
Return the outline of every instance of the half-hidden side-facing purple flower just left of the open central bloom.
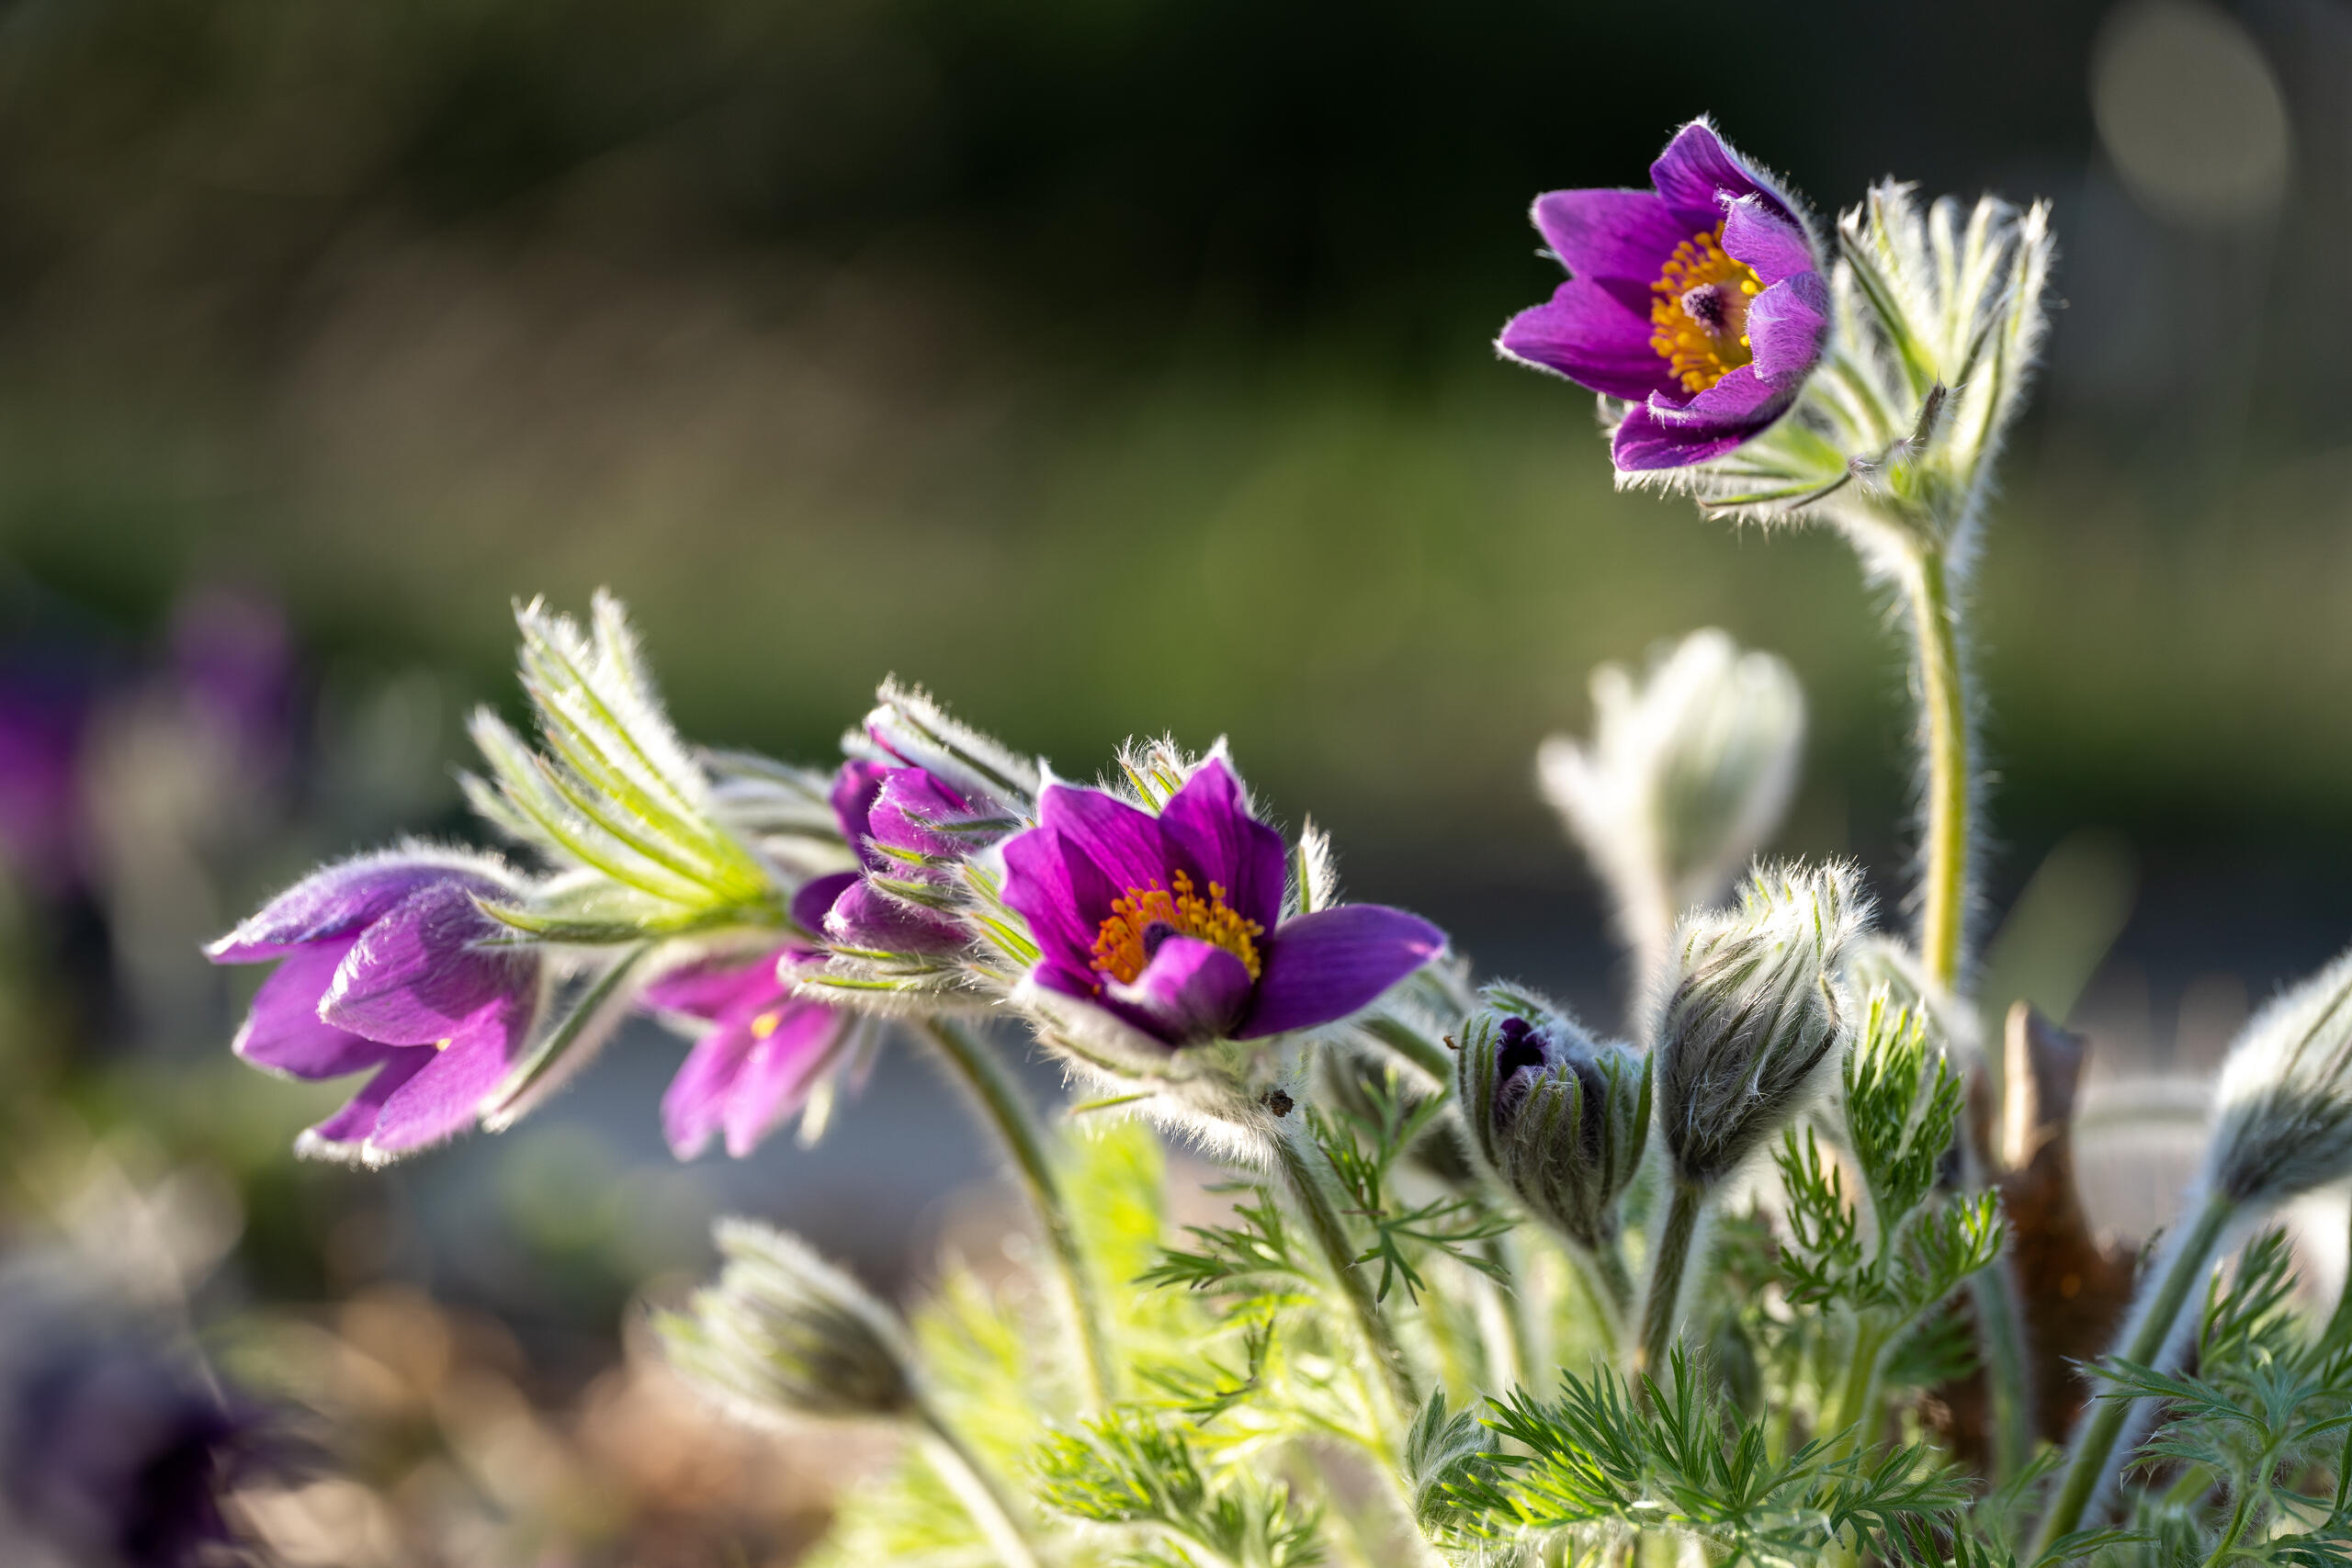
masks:
<svg viewBox="0 0 2352 1568"><path fill-rule="evenodd" d="M858 870L811 879L793 898L793 919L851 954L946 957L971 943L955 917L882 884L946 896L946 863L1002 837L993 802L974 802L929 769L851 757L833 778L833 816Z"/></svg>

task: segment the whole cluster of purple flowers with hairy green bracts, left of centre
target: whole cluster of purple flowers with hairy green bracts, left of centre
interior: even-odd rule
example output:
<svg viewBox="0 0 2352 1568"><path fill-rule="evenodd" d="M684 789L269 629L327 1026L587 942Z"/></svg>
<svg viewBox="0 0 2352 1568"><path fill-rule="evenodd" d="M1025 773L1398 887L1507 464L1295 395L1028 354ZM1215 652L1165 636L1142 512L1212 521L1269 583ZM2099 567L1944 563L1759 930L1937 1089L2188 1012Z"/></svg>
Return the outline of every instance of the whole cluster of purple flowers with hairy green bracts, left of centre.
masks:
<svg viewBox="0 0 2352 1568"><path fill-rule="evenodd" d="M689 755L612 599L593 632L536 604L520 623L546 750L485 715L499 780L473 795L541 865L402 844L209 947L278 964L238 1056L369 1074L310 1154L381 1164L506 1124L628 1006L699 1032L661 1107L677 1157L713 1135L741 1157L858 1058L875 1013L1009 1004L1073 1060L1150 1074L1348 1018L1444 950L1402 910L1305 907L1223 750L1073 785L889 684L830 776Z"/></svg>

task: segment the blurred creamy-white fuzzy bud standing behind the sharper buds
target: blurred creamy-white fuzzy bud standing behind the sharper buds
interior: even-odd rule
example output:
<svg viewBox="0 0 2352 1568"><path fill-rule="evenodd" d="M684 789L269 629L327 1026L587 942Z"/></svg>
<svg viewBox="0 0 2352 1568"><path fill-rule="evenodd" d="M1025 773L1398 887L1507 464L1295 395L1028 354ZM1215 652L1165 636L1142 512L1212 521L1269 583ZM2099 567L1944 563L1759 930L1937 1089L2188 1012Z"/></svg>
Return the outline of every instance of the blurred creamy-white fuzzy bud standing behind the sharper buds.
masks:
<svg viewBox="0 0 2352 1568"><path fill-rule="evenodd" d="M1771 654L1726 632L1661 644L1639 677L1592 672L1592 741L1536 750L1543 797L1609 884L1644 969L1675 917L1731 886L1788 811L1804 750L1804 691Z"/></svg>

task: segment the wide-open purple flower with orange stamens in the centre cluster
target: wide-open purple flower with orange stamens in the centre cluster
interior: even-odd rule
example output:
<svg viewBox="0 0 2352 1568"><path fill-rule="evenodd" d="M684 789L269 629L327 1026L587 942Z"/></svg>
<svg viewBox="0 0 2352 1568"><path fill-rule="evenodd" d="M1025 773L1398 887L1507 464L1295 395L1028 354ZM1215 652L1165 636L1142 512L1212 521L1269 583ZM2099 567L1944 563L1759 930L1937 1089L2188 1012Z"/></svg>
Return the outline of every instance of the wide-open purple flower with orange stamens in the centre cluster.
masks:
<svg viewBox="0 0 2352 1568"><path fill-rule="evenodd" d="M1282 919L1289 856L1211 757L1160 816L1047 785L1004 844L1004 905L1040 947L1030 983L1169 1044L1258 1039L1345 1018L1444 950L1381 905Z"/></svg>

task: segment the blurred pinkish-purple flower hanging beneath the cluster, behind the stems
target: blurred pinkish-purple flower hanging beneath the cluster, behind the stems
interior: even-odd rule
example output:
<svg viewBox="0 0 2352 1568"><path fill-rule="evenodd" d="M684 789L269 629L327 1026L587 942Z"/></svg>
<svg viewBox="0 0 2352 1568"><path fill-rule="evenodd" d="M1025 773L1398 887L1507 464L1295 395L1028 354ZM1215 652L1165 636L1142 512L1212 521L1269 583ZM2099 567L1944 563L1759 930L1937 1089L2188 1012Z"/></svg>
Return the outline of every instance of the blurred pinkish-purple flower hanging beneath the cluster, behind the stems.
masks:
<svg viewBox="0 0 2352 1568"><path fill-rule="evenodd" d="M694 1159L713 1133L727 1152L750 1154L786 1117L807 1105L856 1030L856 1016L793 994L788 966L807 947L779 947L750 961L713 959L644 987L642 1004L710 1025L661 1095L661 1131L677 1159Z"/></svg>

